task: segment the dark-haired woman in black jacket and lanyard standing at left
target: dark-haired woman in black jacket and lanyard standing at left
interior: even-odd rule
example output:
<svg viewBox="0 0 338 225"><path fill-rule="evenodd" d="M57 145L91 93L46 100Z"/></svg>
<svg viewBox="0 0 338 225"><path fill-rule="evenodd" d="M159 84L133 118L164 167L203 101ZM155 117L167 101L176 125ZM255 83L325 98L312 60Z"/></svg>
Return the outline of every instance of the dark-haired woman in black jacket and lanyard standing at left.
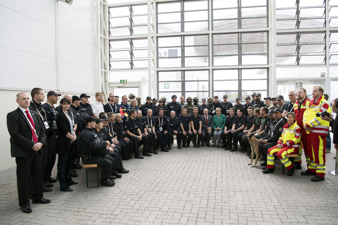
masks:
<svg viewBox="0 0 338 225"><path fill-rule="evenodd" d="M75 185L77 182L73 181L69 176L68 158L71 152L71 146L76 140L75 132L73 131L74 122L68 115L70 101L63 98L60 101L62 111L57 114L57 141L56 153L59 155L57 159L57 176L60 183L61 191L73 191L69 186Z"/></svg>

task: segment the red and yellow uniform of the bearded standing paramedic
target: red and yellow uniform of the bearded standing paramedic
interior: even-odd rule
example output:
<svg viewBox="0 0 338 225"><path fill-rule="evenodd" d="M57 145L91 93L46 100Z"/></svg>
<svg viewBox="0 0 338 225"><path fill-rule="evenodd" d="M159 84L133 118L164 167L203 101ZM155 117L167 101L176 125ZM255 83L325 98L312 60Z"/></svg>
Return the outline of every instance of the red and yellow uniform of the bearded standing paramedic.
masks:
<svg viewBox="0 0 338 225"><path fill-rule="evenodd" d="M303 102L300 102L297 100L293 104L293 110L295 112L296 118L295 120L297 121L298 126L300 127L301 130L301 143L303 145L304 153L305 153L305 158L306 158L306 164L309 165L310 163L310 153L311 153L311 145L308 145L307 141L307 134L306 130L303 128L303 115L305 110L308 108L310 103L310 100L308 98L305 98ZM299 148L299 158L294 158L294 163L301 164L301 148Z"/></svg>

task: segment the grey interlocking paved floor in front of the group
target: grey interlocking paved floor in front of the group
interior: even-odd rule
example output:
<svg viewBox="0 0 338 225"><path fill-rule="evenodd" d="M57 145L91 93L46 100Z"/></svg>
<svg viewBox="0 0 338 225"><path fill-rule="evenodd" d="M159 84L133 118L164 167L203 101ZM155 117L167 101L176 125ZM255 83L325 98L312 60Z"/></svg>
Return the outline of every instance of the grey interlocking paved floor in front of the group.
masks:
<svg viewBox="0 0 338 225"><path fill-rule="evenodd" d="M334 152L327 154L327 172ZM130 173L114 187L86 188L85 170L78 170L73 192L54 183L45 193L52 202L31 203L30 214L18 206L14 167L0 173L0 224L338 224L338 177L315 183L299 170L282 175L280 162L274 174L248 162L241 152L175 145L123 161Z"/></svg>

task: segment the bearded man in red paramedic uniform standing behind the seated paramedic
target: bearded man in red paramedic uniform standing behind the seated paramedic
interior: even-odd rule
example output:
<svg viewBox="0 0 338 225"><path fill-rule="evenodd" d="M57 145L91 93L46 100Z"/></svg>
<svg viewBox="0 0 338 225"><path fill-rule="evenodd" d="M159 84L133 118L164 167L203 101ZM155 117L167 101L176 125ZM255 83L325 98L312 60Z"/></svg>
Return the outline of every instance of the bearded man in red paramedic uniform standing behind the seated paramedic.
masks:
<svg viewBox="0 0 338 225"><path fill-rule="evenodd" d="M304 124L303 124L303 116L305 110L308 108L310 99L307 98L307 93L305 88L299 88L297 91L297 101L293 104L293 110L295 113L295 120L297 121L298 126L300 127L301 130L301 142L303 145L304 153L305 153L305 158L306 158L306 164L307 166L310 163L310 154L312 149L309 149L311 146L308 143L308 134L306 133L306 130L304 129ZM295 158L294 162L297 165L297 169L301 169L301 148L299 148L299 158Z"/></svg>

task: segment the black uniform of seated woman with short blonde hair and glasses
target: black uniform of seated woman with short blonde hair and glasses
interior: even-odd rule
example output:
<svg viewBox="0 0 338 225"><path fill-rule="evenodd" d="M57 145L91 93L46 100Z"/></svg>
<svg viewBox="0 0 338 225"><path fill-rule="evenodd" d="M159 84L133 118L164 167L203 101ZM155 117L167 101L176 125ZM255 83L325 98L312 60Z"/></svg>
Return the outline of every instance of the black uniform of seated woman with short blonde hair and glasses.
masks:
<svg viewBox="0 0 338 225"><path fill-rule="evenodd" d="M114 122L113 129L114 129L114 134L116 134L116 136L117 136L117 140L121 144L122 150L124 150L122 152L122 155L123 155L122 159L129 160L128 157L131 157L132 150L134 148L134 141L130 140L130 139L129 139L129 141L127 141L127 140L124 139L124 138L127 137L127 134L124 130L124 124L123 124L122 120L121 120L121 122L118 122L116 120Z"/></svg>

